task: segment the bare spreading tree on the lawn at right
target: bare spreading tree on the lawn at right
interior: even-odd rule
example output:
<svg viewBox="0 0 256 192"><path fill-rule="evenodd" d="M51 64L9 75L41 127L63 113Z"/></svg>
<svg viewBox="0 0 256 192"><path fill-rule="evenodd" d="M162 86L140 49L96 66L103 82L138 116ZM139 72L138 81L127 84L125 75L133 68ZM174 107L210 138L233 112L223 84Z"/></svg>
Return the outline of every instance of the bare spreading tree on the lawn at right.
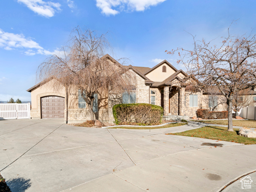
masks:
<svg viewBox="0 0 256 192"><path fill-rule="evenodd" d="M206 90L217 87L226 97L228 105L228 131L233 131L232 106L234 94L256 86L256 36L243 35L222 37L221 42L212 45L212 41L196 41L194 49L177 48L168 54L180 56L188 69L188 77L197 79L195 87ZM191 82L191 81L190 81Z"/></svg>

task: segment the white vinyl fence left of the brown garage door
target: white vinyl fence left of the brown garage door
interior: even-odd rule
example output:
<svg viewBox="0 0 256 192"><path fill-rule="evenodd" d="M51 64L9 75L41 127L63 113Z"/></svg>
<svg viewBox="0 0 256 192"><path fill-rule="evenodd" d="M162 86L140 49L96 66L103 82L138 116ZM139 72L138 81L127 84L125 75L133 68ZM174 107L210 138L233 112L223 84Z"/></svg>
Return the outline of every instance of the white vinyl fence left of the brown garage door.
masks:
<svg viewBox="0 0 256 192"><path fill-rule="evenodd" d="M0 119L30 119L30 103L1 103Z"/></svg>

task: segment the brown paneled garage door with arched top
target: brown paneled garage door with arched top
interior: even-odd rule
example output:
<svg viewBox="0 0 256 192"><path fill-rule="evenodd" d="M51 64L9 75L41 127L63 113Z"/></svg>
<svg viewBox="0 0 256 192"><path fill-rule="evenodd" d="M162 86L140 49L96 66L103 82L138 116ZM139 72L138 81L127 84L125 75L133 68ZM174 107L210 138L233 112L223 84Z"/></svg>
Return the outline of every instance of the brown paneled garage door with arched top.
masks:
<svg viewBox="0 0 256 192"><path fill-rule="evenodd" d="M42 118L64 118L64 98L46 96L41 98Z"/></svg>

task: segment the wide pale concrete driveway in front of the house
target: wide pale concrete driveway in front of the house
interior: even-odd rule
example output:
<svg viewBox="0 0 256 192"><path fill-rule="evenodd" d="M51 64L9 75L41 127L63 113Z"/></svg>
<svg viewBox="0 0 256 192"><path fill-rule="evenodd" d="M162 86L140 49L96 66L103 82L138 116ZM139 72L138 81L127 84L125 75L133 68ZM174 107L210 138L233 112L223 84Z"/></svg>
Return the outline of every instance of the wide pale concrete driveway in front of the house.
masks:
<svg viewBox="0 0 256 192"><path fill-rule="evenodd" d="M122 130L0 120L0 172L12 192L205 192L256 170L255 145L164 134L201 126Z"/></svg>

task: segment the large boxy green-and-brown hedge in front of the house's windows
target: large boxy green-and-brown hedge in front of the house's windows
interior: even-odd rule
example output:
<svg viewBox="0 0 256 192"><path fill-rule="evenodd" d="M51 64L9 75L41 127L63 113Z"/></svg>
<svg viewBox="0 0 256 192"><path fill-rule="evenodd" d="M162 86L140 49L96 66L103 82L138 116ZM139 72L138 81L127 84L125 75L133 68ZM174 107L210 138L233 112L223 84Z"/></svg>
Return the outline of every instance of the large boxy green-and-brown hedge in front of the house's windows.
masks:
<svg viewBox="0 0 256 192"><path fill-rule="evenodd" d="M162 122L164 110L162 107L147 103L131 103L114 105L114 123L138 125L155 125Z"/></svg>

